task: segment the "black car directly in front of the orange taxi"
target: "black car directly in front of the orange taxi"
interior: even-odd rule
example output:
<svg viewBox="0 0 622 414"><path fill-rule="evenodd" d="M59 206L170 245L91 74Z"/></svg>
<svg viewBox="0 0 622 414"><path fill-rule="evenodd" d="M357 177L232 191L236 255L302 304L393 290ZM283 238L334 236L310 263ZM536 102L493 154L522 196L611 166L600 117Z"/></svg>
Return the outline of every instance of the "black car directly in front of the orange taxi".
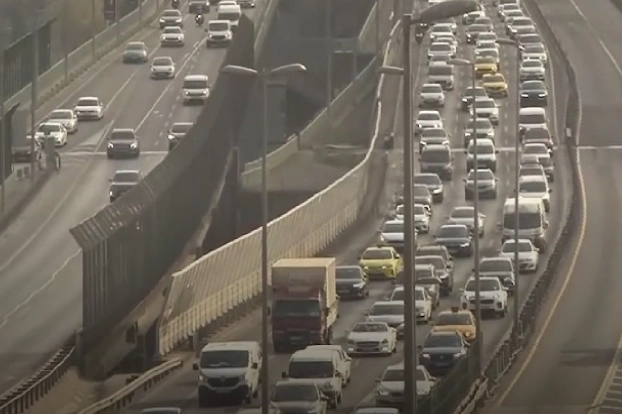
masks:
<svg viewBox="0 0 622 414"><path fill-rule="evenodd" d="M419 363L434 376L447 374L469 353L469 344L458 331L432 331L417 348Z"/></svg>

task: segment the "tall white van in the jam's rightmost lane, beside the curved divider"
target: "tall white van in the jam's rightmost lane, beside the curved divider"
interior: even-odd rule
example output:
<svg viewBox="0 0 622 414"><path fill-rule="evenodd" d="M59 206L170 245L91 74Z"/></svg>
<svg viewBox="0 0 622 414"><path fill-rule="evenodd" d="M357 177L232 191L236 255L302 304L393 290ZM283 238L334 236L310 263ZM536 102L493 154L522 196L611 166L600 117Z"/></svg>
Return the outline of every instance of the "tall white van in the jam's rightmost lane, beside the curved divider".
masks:
<svg viewBox="0 0 622 414"><path fill-rule="evenodd" d="M508 198L503 206L503 223L500 224L503 242L515 237L515 202L515 198ZM529 239L540 248L545 246L544 237L546 229L549 227L549 222L546 220L544 203L541 199L519 197L518 222L518 237L520 239Z"/></svg>

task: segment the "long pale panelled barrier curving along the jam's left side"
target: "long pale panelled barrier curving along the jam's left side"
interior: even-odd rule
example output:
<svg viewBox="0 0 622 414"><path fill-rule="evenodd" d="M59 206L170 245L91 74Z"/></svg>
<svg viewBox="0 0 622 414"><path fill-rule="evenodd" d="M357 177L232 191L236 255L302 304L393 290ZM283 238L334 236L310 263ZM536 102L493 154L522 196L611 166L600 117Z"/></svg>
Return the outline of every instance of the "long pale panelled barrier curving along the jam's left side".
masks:
<svg viewBox="0 0 622 414"><path fill-rule="evenodd" d="M396 28L385 48L384 63L393 63ZM378 67L378 59L370 65ZM370 78L370 82L373 79ZM367 184L379 151L382 103L376 93L377 118L370 149L363 161L331 186L269 223L269 258L309 257L334 241L359 217ZM303 219L304 218L304 219ZM160 325L160 352L166 354L199 328L222 320L252 303L260 294L260 231L255 230L203 256L175 273ZM240 260L243 258L243 260Z"/></svg>

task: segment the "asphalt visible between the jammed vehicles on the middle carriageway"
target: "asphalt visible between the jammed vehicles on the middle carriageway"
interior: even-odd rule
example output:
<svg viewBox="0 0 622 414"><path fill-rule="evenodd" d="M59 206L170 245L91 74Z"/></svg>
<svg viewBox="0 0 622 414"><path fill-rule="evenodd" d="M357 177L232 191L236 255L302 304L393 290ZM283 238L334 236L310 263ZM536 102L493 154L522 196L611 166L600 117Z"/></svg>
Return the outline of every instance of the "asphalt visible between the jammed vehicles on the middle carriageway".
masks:
<svg viewBox="0 0 622 414"><path fill-rule="evenodd" d="M462 29L461 29L462 30ZM501 30L500 27L498 30ZM501 32L499 32L501 33ZM461 33L461 42L464 40L464 34ZM425 82L427 62L425 62L425 52L427 49L427 42L423 47L418 47L413 42L413 55L414 62L413 68L415 68L416 84L418 87ZM470 48L462 45L460 47L463 57L471 57ZM513 152L510 147L513 146L514 138L513 133L516 127L516 91L515 85L515 72L516 61L515 52L513 50L504 50L502 52L503 71L511 85L510 98L500 100L501 108L501 120L500 125L497 128L496 141L498 147L501 149L500 162L498 168L499 175L499 197L497 200L482 201L482 212L487 215L486 222L486 235L482 239L481 249L484 256L496 255L496 250L500 247L500 234L495 232L496 223L501 220L501 211L505 198L509 195L512 189L511 181L513 177ZM552 66L553 67L553 66ZM553 72L549 72L552 74ZM554 77L554 75L553 75ZM462 153L462 136L463 128L466 124L467 115L459 110L459 95L461 91L470 85L469 71L460 70L457 76L457 83L455 91L448 94L446 101L446 107L443 109L443 118L445 128L452 136L452 147L455 148L455 174L451 183L448 183L445 187L445 201L442 205L436 205L434 207L434 216L432 223L431 234L434 234L435 229L439 224L445 220L445 217L450 213L451 209L455 206L465 205L464 191L463 191L463 178L466 174L465 160ZM551 79L549 79L549 85L552 85ZM551 91L553 92L553 91ZM551 94L553 95L553 93ZM514 99L513 99L514 98ZM395 97L397 100L397 96ZM557 117L554 109L556 104L551 102L549 113L551 117L551 125L555 125L557 128ZM399 113L399 112L398 112ZM398 125L401 125L401 120L398 120ZM399 131L398 131L399 135ZM399 149L396 150L399 152ZM394 154L395 155L395 154ZM557 156L559 157L559 156ZM392 157L401 158L401 157ZM560 163L561 164L561 163ZM401 169L401 163L397 162L392 165L392 168L396 170ZM562 205L564 197L560 194L560 187L565 185L566 179L563 178L563 172L561 168L557 171L560 177L556 180L552 197L552 209L549 220L551 227L549 229L549 235L551 240L556 236L559 230L559 217L561 215ZM352 236L350 240L345 241L341 245L341 249L335 251L335 256L340 264L354 264L357 261L357 257L360 255L365 247L373 243L375 239L376 230L381 225L380 221L367 223L361 228L357 229L356 234ZM422 237L423 243L430 242L430 236ZM447 299L443 299L440 310L448 309L451 306L459 304L459 288L464 286L472 269L472 261L468 259L457 259L455 268L455 289L454 293ZM538 275L521 275L520 284L520 296L524 297L526 292L531 288L533 282ZM341 304L340 318L337 322L336 329L333 331L334 340L337 343L343 344L345 341L346 331L350 329L353 324L362 320L364 314L369 310L371 305L377 300L385 299L390 293L392 285L389 282L373 283L370 292L370 297L366 300L355 302L344 302ZM510 312L511 315L511 312ZM511 323L511 319L508 316L504 319L491 319L485 320L483 323L484 328L484 348L487 355L490 355L495 345L499 342L501 337L505 334ZM418 340L423 339L425 334L429 331L429 327L420 326L417 328ZM218 334L217 338L213 338L213 341L235 341L235 340L256 340L260 339L260 316L247 318L244 321L235 324L228 328L226 331ZM362 405L373 405L373 391L375 388L375 379L380 377L387 365L400 362L402 359L402 349L396 355L386 358L361 358L355 359L352 371L352 383L345 389L343 396L343 403L340 407L340 412L352 412L356 407ZM287 369L289 361L288 355L275 355L270 354L271 364L271 378L270 383L274 384L281 378L281 373ZM191 364L186 364L177 374L172 376L169 380L165 381L160 386L154 388L154 390L147 394L142 400L137 401L134 406L130 407L128 412L138 413L141 409L147 407L181 407L186 413L200 413L205 412L205 409L199 409L197 405L197 387L196 387L196 373L191 370ZM215 407L209 409L210 413L231 413L235 412L237 407Z"/></svg>

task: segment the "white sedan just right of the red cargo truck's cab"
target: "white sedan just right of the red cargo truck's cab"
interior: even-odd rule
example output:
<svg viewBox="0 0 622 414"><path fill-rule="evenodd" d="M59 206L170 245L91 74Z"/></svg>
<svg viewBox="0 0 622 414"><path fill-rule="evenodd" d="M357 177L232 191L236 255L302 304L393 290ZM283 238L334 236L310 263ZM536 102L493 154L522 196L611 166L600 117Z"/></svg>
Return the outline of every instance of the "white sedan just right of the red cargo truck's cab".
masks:
<svg viewBox="0 0 622 414"><path fill-rule="evenodd" d="M391 355L397 350L397 331L385 322L359 322L346 339L348 355Z"/></svg>

